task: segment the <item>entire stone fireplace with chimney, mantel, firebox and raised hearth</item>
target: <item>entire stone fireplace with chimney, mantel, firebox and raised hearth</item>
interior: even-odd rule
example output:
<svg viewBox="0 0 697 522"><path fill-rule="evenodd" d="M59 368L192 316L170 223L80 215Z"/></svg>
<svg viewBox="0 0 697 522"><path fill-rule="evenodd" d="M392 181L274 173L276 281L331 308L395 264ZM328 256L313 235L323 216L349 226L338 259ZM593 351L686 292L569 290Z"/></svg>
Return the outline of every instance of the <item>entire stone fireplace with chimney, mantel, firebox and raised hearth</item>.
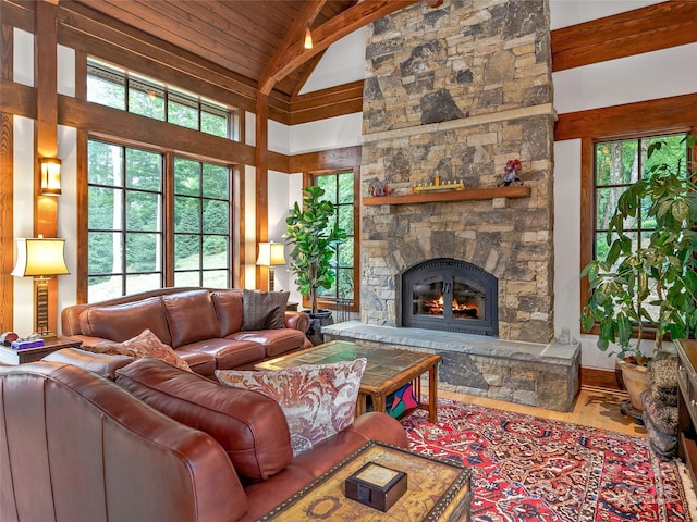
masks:
<svg viewBox="0 0 697 522"><path fill-rule="evenodd" d="M547 1L417 2L372 24L366 72L360 320L325 338L438 353L439 388L567 411L580 346L553 339ZM515 159L517 192L499 187Z"/></svg>

